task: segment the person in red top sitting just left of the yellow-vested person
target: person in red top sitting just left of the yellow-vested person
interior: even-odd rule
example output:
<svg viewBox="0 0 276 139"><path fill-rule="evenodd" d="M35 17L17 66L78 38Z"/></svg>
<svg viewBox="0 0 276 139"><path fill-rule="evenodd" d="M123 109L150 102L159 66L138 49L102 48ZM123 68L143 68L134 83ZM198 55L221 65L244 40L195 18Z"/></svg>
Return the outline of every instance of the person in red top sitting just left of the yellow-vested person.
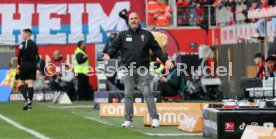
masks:
<svg viewBox="0 0 276 139"><path fill-rule="evenodd" d="M58 50L53 52L53 59L51 60L50 63L55 65L55 70L56 70L56 72L55 72L56 74L54 76L51 76L50 81L49 81L50 89L52 91L60 91L61 87L59 86L56 79L57 79L57 76L61 76L61 69L62 69L62 64L64 63L64 61L62 59L61 53Z"/></svg>

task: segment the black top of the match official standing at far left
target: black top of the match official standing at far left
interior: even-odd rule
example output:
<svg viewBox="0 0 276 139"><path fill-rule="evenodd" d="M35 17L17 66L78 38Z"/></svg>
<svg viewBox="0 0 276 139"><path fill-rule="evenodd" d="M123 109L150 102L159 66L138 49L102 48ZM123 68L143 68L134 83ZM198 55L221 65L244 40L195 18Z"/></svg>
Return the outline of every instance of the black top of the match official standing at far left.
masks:
<svg viewBox="0 0 276 139"><path fill-rule="evenodd" d="M36 62L38 55L38 48L33 40L23 41L19 46L18 64L24 62Z"/></svg>

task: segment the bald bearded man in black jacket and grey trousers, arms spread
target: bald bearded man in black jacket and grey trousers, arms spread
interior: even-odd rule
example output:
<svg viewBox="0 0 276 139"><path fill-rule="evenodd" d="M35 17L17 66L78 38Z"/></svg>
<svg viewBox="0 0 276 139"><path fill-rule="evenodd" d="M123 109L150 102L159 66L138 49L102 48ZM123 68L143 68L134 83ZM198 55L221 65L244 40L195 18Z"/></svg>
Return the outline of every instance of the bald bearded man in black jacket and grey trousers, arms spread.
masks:
<svg viewBox="0 0 276 139"><path fill-rule="evenodd" d="M159 116L153 94L150 90L150 75L148 71L150 50L152 50L168 68L173 68L173 64L163 54L151 32L141 29L137 13L130 13L128 21L130 28L118 34L117 38L112 42L111 48L103 56L103 60L109 60L110 56L113 56L120 50L123 66L133 71L133 73L125 75L125 122L122 126L132 127L133 94L135 82L137 81L138 84L142 86L142 92L147 103L148 111L153 119L152 127L159 127ZM136 67L131 68L130 66L133 64Z"/></svg>

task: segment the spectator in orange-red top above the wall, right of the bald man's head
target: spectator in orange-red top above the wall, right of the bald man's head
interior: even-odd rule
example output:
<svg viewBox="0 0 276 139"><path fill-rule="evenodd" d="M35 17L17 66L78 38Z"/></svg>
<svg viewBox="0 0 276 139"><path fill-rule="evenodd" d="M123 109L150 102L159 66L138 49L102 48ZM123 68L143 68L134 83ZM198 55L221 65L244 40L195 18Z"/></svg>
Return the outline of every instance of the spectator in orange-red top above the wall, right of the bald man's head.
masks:
<svg viewBox="0 0 276 139"><path fill-rule="evenodd" d="M160 0L158 6L157 26L168 26L171 23L171 8L166 0Z"/></svg>

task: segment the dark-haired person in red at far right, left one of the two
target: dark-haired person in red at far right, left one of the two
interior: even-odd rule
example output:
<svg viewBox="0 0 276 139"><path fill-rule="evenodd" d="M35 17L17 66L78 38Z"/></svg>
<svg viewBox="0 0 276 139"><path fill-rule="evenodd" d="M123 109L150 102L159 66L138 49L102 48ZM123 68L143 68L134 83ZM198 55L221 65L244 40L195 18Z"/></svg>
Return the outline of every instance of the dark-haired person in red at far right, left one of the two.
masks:
<svg viewBox="0 0 276 139"><path fill-rule="evenodd" d="M265 76L265 58L262 53L257 53L254 56L254 62L257 68L256 77L263 78Z"/></svg>

